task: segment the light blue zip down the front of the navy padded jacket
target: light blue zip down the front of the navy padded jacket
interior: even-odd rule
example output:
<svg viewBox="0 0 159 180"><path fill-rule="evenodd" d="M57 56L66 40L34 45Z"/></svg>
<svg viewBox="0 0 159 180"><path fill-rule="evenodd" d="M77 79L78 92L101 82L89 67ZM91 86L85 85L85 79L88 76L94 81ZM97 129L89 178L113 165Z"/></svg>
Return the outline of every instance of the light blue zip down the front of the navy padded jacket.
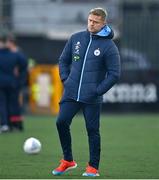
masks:
<svg viewBox="0 0 159 180"><path fill-rule="evenodd" d="M85 56L84 56L84 61L83 61L83 66L82 66L82 72L81 72L81 77L80 77L80 82L79 82L79 87L78 87L77 101L79 101L79 97L80 97L80 91L81 91L81 84L82 84L82 79L83 79L84 67L85 67L85 63L86 63L86 59L87 59L87 54L88 54L88 50L90 48L91 43L92 43L92 36L90 35L89 44L87 46L87 50L86 50L86 53L85 53Z"/></svg>

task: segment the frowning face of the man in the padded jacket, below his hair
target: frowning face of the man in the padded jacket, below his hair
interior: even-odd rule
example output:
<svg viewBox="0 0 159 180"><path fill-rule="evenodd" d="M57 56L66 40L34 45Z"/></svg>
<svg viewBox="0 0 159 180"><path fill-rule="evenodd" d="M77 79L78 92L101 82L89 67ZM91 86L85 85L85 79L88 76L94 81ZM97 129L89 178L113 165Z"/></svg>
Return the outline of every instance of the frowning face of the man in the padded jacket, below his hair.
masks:
<svg viewBox="0 0 159 180"><path fill-rule="evenodd" d="M99 32L102 27L105 26L105 21L102 19L101 16L96 16L93 14L90 14L88 16L88 31L91 33L97 33Z"/></svg>

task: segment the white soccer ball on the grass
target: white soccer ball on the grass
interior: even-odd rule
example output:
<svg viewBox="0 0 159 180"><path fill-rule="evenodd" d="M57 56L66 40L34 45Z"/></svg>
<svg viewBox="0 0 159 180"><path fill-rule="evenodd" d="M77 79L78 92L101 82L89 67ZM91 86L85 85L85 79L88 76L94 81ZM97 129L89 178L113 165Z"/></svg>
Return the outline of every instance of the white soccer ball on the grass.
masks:
<svg viewBox="0 0 159 180"><path fill-rule="evenodd" d="M34 137L30 137L25 140L23 149L27 154L38 154L41 151L41 142Z"/></svg>

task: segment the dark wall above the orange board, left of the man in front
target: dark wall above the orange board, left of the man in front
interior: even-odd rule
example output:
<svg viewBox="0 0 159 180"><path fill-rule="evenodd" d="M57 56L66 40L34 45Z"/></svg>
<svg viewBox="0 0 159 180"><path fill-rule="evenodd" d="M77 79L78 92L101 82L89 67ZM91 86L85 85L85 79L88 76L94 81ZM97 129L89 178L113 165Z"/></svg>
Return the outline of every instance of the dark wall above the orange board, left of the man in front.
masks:
<svg viewBox="0 0 159 180"><path fill-rule="evenodd" d="M37 64L57 64L66 40L49 40L42 35L18 36L17 42L24 53Z"/></svg>

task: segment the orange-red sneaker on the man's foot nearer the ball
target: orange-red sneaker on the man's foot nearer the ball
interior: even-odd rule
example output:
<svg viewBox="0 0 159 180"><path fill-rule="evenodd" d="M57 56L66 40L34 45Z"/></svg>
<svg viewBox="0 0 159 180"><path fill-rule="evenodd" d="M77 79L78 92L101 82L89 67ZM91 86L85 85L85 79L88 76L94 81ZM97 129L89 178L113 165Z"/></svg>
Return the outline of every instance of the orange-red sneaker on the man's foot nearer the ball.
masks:
<svg viewBox="0 0 159 180"><path fill-rule="evenodd" d="M52 174L55 176L62 175L66 171L77 167L77 163L75 161L66 161L66 160L62 159L60 162L61 162L61 164L52 171Z"/></svg>

